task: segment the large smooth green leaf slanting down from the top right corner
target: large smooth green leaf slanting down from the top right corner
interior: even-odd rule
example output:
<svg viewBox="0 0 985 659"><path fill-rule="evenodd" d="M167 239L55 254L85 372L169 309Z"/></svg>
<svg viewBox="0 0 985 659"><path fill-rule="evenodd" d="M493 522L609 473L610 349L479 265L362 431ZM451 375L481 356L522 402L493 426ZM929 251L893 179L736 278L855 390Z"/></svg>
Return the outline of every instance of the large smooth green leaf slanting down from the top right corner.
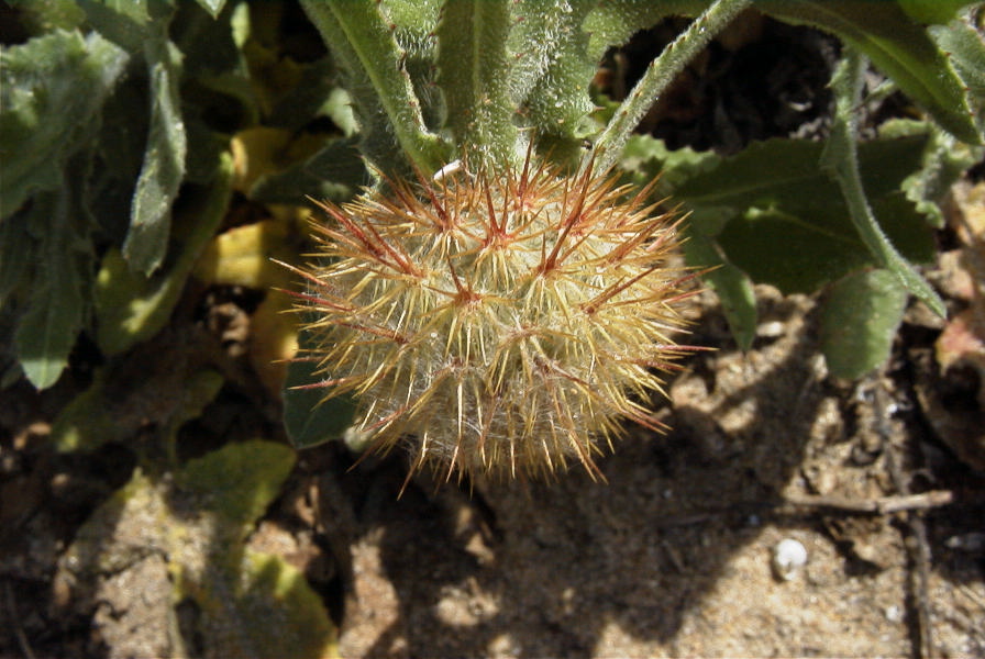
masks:
<svg viewBox="0 0 985 659"><path fill-rule="evenodd" d="M926 5L912 2L910 9L919 11ZM834 33L872 59L942 127L969 144L982 144L964 83L927 30L898 2L759 0L756 9Z"/></svg>

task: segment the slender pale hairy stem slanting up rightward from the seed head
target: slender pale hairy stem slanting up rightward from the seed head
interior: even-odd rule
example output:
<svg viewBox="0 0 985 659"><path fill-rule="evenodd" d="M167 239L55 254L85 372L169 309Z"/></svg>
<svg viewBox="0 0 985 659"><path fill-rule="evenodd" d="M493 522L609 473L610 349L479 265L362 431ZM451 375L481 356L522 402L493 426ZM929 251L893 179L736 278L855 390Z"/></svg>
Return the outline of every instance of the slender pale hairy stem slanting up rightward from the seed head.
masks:
<svg viewBox="0 0 985 659"><path fill-rule="evenodd" d="M646 72L622 101L616 115L595 143L595 168L605 171L611 167L643 115L674 81L684 67L700 53L711 38L721 32L732 19L752 4L751 0L716 0L705 13L691 21L660 57L650 63ZM584 170L588 158L582 160Z"/></svg>

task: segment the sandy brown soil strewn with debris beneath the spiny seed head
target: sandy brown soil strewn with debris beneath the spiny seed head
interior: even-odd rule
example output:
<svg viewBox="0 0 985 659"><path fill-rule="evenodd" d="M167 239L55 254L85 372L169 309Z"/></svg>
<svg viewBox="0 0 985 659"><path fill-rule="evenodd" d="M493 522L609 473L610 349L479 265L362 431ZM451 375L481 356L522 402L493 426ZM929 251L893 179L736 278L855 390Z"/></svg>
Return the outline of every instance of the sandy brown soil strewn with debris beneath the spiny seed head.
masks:
<svg viewBox="0 0 985 659"><path fill-rule="evenodd" d="M776 24L735 38L795 44L818 66L833 52L815 33ZM716 48L700 67L719 78L727 60L760 56ZM704 147L822 130L827 76L807 70L770 78L774 96L789 100L795 90L796 104L735 112L717 124L734 129L723 133L728 143ZM721 133L687 123L685 110L705 116L691 105L710 107L713 115L739 89L691 86L690 104L660 109L648 127ZM807 110L793 121L781 107ZM948 263L928 271L945 294L955 276ZM766 287L757 294L757 337L744 353L713 295L700 295L688 342L716 349L686 359L668 400L656 402L667 434L631 427L600 461L606 482L578 470L552 482L435 484L418 474L401 495L400 456L356 463L330 444L299 454L251 544L305 571L339 625L341 655L353 659L985 657L978 375L940 368L934 342L944 323L915 304L889 364L839 381L818 354L816 301ZM210 331L209 317L239 310L234 343L246 340L256 297L189 287L184 306L198 315L178 313L175 324L192 328L173 326L141 353L167 364L191 345L231 365L219 398L186 433L211 444L184 446L189 456L258 432L286 440L277 403L242 350L224 328ZM129 572L135 582L109 584L109 613L98 602L80 606L55 578L80 524L134 465L125 445L60 455L48 442L52 420L98 361L91 347L77 353L54 389L2 392L0 657L146 657L163 634L166 600L153 584L167 579L153 560ZM155 421L153 409L137 413ZM955 425L977 427L978 444L955 446ZM804 547L805 565L777 569L784 540Z"/></svg>

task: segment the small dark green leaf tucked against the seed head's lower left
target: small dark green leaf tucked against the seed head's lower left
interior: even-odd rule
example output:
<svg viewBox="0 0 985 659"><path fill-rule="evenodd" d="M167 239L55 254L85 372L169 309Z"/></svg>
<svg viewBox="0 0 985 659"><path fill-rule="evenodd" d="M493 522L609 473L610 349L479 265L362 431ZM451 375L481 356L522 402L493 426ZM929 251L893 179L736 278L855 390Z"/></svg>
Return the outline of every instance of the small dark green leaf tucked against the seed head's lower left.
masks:
<svg viewBox="0 0 985 659"><path fill-rule="evenodd" d="M348 396L325 400L327 389L298 389L323 379L317 372L318 364L305 360L316 344L311 334L308 331L300 333L299 359L288 366L284 384L284 427L298 449L341 438L352 426L356 411L355 402Z"/></svg>

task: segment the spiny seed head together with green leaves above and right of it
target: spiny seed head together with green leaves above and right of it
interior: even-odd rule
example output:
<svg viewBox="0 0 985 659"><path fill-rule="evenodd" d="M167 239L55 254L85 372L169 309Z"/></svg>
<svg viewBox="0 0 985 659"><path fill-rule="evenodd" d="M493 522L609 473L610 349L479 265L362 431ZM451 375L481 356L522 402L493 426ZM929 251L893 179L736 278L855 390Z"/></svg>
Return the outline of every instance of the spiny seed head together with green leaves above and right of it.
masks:
<svg viewBox="0 0 985 659"><path fill-rule="evenodd" d="M953 153L958 139L980 144L981 131L962 79L917 21L951 20L962 4L889 2L873 10L851 2L756 3L784 20L834 32L844 42L844 57L832 79L835 113L827 144L773 141L734 156L732 165L712 154L667 153L631 133L689 59L749 2L303 0L346 75L362 122L361 148L381 176L363 201L325 206L331 227L317 231L323 233L323 255L339 260L305 273L312 291L306 298L313 312L308 327L317 338L310 338L297 367L303 375L295 381L319 380L300 388L324 387L329 399L355 395L357 425L376 433L377 446L413 436L417 462L436 456L452 470L505 466L514 471L519 463L540 471L565 456L591 468L588 437L615 429L612 414L644 421L638 403L615 392L641 393L660 383L643 371L622 372L627 362L613 356L633 345L654 346L653 355L641 348L634 368L665 367L663 332L678 323L657 315L648 322L658 332L640 325L652 313L642 311L648 305L658 309L680 299L676 276L661 278L657 255L648 254L651 243L635 231L605 247L594 244L590 224L597 222L604 234L608 225L578 206L584 220L576 222L585 223L586 237L574 244L588 256L576 247L564 247L565 254L588 266L601 254L623 254L617 245L631 244L624 254L639 261L635 270L613 268L593 278L574 273L572 266L566 286L584 290L580 295L529 292L572 226L564 208L571 202L552 215L535 193L524 197L527 175L517 172L525 172L531 159L534 168L543 167L541 160L554 163L544 186L560 186L564 194L594 189L591 177L620 159L640 175L640 185L662 174L667 185L660 193L675 194L693 211L685 247L689 265L706 269L741 346L751 344L755 327L750 276L788 291L831 284L822 328L829 368L844 377L866 372L888 355L908 292L943 313L937 293L906 257L931 258L920 213L933 213L942 186L981 155L977 147ZM697 18L621 104L608 115L594 112L590 78L602 52L662 12L679 11ZM981 42L965 49L969 58L981 52ZM866 56L936 123L887 127L860 158L855 109ZM920 170L921 158L949 158L950 174L938 171L933 181L925 174L906 188L904 179ZM455 164L450 176L449 163ZM775 176L763 176L767 163ZM435 172L436 185L429 181ZM877 185L863 179L871 176L878 177ZM406 179L419 181L414 191L399 182ZM744 187L735 186L737 179ZM808 189L811 183L815 189ZM543 197L544 208L556 203L552 194ZM542 213L540 223L512 210L527 203L534 216ZM873 208L896 215L888 235ZM626 212L634 225L635 211ZM521 238L516 250L487 258L485 245L497 222L517 226ZM662 244L655 224L642 226L642 235ZM833 244L820 242L803 256L786 250L818 237ZM502 260L496 260L499 254ZM643 284L644 273L655 281ZM650 288L613 298L624 324L589 327L590 300L622 292L627 282ZM540 305L535 311L531 300ZM520 327L536 337L536 349L511 343ZM619 338L602 348L596 333L610 330ZM422 338L429 333L433 340ZM553 365L551 377L534 378L544 364ZM514 379L505 378L508 369Z"/></svg>

